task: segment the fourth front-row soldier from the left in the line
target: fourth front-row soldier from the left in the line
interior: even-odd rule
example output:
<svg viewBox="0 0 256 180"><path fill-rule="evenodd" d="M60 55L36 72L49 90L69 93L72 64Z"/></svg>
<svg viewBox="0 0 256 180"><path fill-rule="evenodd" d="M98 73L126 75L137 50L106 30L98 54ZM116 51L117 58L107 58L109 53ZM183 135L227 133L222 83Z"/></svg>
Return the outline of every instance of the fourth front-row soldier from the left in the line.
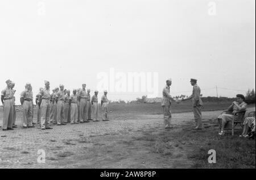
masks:
<svg viewBox="0 0 256 180"><path fill-rule="evenodd" d="M56 93L55 101L57 103L57 125L66 125L64 123L64 85L60 85L60 90Z"/></svg>

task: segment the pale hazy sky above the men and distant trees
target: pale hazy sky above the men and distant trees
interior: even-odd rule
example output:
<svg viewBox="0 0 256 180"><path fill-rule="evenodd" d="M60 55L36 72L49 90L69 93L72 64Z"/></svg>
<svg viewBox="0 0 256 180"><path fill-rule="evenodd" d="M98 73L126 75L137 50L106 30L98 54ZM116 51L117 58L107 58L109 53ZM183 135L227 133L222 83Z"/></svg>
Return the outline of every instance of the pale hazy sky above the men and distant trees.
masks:
<svg viewBox="0 0 256 180"><path fill-rule="evenodd" d="M167 78L173 95L191 94L191 77L204 96L216 95L216 85L232 89L218 89L221 96L244 94L255 88L255 1L212 1L216 15L209 2L2 0L0 89L11 79L16 97L26 82L36 94L47 79L51 87L86 83L94 90L97 75L114 68L158 73L159 97ZM115 91L109 98L143 94Z"/></svg>

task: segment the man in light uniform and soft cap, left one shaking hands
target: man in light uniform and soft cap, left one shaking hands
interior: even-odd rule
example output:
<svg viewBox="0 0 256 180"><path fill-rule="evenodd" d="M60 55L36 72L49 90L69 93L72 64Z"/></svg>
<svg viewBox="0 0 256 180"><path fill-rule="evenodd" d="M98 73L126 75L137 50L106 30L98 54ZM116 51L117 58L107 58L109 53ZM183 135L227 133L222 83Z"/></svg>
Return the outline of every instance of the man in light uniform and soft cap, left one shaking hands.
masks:
<svg viewBox="0 0 256 180"><path fill-rule="evenodd" d="M179 103L179 101L175 100L170 95L170 86L172 85L172 79L168 79L166 81L166 86L163 89L163 99L162 99L162 107L163 107L163 115L164 115L164 128L171 129L171 119L172 119L172 112L171 112L171 104L172 101Z"/></svg>

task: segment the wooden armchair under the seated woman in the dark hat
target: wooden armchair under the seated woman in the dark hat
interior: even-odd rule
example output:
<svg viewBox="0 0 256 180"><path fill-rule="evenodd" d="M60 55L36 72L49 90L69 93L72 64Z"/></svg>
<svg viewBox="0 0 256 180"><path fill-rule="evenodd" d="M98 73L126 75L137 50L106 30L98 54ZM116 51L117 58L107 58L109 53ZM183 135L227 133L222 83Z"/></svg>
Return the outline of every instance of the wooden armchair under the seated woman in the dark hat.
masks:
<svg viewBox="0 0 256 180"><path fill-rule="evenodd" d="M246 111L237 111L236 113L232 114L232 112L230 111L223 111L221 112L221 115L222 114L232 114L234 115L234 118L232 120L232 122L228 122L226 125L225 125L225 130L232 130L232 136L234 136L234 128L236 127L237 124L240 124L241 127L243 127L243 119L245 117L245 112ZM218 118L218 123L219 123L219 132L221 131L221 119Z"/></svg>

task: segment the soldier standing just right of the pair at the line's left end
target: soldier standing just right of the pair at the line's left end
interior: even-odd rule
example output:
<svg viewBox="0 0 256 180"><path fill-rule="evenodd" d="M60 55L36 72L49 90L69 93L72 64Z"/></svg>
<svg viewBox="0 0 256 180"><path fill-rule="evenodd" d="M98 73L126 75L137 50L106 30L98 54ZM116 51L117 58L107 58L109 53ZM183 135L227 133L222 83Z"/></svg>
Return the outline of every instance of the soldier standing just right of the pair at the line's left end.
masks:
<svg viewBox="0 0 256 180"><path fill-rule="evenodd" d="M26 83L26 90L20 94L20 104L22 104L22 127L34 127L32 124L32 108L33 108L33 93L31 91L31 84Z"/></svg>

